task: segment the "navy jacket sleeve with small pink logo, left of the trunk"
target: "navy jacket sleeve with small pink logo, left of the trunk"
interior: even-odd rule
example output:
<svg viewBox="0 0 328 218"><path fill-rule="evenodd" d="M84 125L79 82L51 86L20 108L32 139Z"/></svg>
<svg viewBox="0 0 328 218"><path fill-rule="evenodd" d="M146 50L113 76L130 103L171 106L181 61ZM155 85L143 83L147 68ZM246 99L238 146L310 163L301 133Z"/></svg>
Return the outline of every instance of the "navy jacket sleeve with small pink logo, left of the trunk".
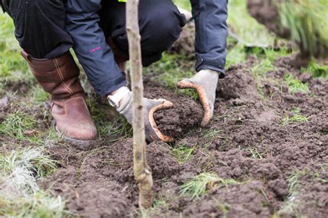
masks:
<svg viewBox="0 0 328 218"><path fill-rule="evenodd" d="M100 2L101 0L67 0L66 29L73 38L74 52L95 92L104 96L125 86L127 82L116 64L104 32L98 25Z"/></svg>

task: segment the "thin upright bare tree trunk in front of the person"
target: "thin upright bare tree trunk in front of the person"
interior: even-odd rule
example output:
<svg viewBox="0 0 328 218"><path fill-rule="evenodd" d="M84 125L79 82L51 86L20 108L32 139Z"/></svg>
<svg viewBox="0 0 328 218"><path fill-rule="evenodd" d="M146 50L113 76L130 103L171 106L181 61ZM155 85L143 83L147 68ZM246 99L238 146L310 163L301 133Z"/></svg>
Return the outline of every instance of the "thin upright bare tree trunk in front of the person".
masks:
<svg viewBox="0 0 328 218"><path fill-rule="evenodd" d="M143 66L141 62L138 0L127 0L127 37L129 39L130 75L134 108L134 178L139 187L140 208L152 206L152 172L145 152L145 123L143 119Z"/></svg>

